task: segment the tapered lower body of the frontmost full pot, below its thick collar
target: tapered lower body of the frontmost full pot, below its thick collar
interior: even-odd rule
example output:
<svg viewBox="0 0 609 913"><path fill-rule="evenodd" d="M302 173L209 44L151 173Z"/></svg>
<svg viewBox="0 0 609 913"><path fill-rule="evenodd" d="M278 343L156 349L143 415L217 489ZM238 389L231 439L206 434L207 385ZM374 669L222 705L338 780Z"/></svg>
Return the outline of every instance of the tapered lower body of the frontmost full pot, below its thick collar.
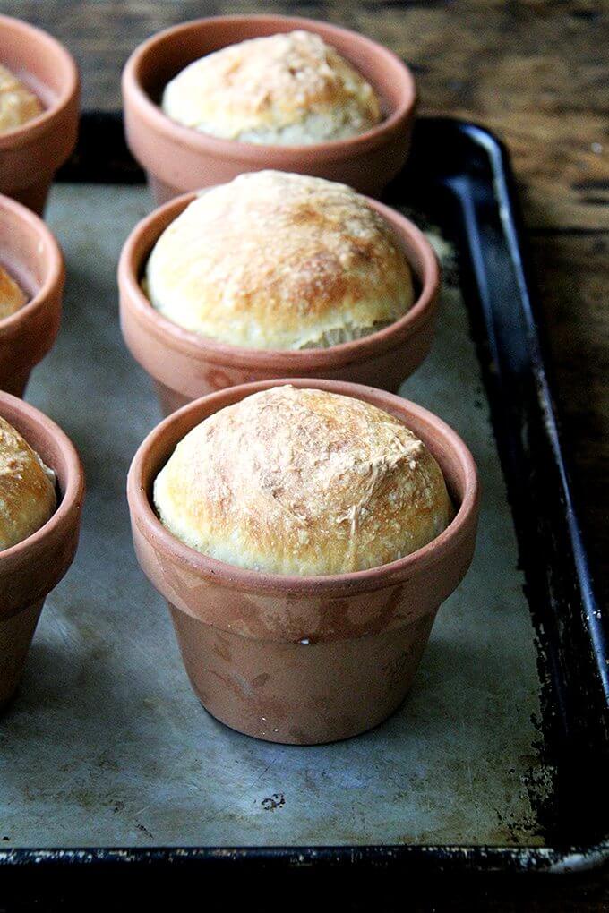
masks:
<svg viewBox="0 0 609 913"><path fill-rule="evenodd" d="M169 608L205 709L238 732L290 745L348 739L390 716L411 687L436 617L354 639L286 644Z"/></svg>

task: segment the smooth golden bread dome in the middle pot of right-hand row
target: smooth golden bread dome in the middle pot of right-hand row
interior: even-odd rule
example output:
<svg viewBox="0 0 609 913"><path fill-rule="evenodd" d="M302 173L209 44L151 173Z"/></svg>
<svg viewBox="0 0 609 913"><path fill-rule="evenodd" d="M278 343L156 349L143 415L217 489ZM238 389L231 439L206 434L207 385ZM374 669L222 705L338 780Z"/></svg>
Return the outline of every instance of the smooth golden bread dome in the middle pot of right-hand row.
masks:
<svg viewBox="0 0 609 913"><path fill-rule="evenodd" d="M152 249L146 291L187 330L284 350L359 339L415 298L404 250L365 197L273 171L240 174L187 206Z"/></svg>

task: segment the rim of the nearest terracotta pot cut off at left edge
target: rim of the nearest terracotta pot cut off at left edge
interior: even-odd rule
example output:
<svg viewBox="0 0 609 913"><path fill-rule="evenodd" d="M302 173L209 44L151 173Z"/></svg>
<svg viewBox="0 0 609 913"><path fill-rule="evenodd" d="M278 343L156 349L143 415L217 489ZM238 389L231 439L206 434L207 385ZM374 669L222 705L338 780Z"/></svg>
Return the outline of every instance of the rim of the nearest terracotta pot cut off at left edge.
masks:
<svg viewBox="0 0 609 913"><path fill-rule="evenodd" d="M0 551L1 579L3 572L10 572L15 564L23 561L27 552L39 553L44 549L47 540L51 540L62 527L72 526L74 511L79 510L79 505L84 497L85 481L84 470L76 447L72 444L65 431L62 431L51 418L48 418L35 406L3 391L0 391L0 415L11 424L14 424L18 416L24 416L31 423L37 425L44 436L49 440L52 439L58 446L67 467L67 483L62 492L61 501L58 508L47 519L47 522L39 530L33 532L31 536L27 536L26 539L17 542L16 545Z"/></svg>

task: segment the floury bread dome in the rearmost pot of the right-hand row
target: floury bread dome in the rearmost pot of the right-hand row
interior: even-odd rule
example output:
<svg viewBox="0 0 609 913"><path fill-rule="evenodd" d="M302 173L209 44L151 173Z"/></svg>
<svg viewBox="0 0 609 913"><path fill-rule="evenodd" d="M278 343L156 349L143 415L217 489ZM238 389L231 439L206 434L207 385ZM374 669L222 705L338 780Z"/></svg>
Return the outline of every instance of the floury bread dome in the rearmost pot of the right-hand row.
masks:
<svg viewBox="0 0 609 913"><path fill-rule="evenodd" d="M239 142L344 140L381 121L372 86L312 32L251 38L195 60L167 84L173 121Z"/></svg>

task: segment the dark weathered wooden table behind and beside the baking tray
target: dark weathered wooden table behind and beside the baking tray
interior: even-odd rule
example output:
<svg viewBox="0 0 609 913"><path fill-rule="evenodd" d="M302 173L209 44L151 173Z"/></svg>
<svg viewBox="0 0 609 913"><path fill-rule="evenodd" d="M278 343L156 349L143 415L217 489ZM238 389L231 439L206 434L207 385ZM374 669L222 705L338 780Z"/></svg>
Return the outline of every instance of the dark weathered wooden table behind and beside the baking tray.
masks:
<svg viewBox="0 0 609 913"><path fill-rule="evenodd" d="M120 107L125 59L142 38L164 26L223 12L298 12L392 47L415 71L423 113L467 118L496 131L509 146L520 183L563 438L572 451L583 526L607 604L609 6L604 0L0 0L0 10L47 28L71 48L89 109ZM600 891L593 890L597 899L590 906L584 901L578 908L609 909L609 893ZM557 909L571 908L557 903Z"/></svg>

